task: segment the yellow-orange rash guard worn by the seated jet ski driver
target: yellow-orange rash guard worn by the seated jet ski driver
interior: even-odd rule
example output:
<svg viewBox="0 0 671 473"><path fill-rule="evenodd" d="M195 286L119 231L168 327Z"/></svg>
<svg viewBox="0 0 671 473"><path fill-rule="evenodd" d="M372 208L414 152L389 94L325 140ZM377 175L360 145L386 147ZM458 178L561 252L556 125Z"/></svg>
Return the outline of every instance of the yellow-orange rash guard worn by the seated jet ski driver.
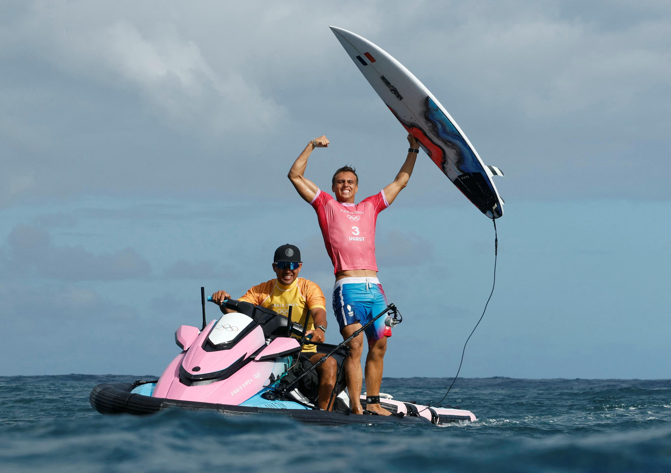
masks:
<svg viewBox="0 0 671 473"><path fill-rule="evenodd" d="M289 315L289 307L293 307L291 309L291 321L300 323L301 326L305 323L308 310L317 307L326 310L326 299L321 292L321 288L305 278L296 278L289 286L280 284L277 279L271 279L250 288L238 300L268 307L268 309L285 316ZM307 329L315 329L312 317L307 324ZM299 338L297 335L292 336ZM316 353L317 346L305 345L303 346L303 352Z"/></svg>

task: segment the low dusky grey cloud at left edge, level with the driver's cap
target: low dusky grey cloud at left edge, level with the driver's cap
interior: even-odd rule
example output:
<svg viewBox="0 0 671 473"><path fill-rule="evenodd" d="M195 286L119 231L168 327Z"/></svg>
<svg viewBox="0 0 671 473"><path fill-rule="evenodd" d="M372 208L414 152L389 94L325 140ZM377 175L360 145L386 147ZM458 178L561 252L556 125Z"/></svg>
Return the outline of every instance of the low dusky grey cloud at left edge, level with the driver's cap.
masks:
<svg viewBox="0 0 671 473"><path fill-rule="evenodd" d="M93 254L83 246L54 246L45 229L19 224L7 237L9 274L35 272L60 280L119 280L145 278L151 267L133 248L113 253Z"/></svg>

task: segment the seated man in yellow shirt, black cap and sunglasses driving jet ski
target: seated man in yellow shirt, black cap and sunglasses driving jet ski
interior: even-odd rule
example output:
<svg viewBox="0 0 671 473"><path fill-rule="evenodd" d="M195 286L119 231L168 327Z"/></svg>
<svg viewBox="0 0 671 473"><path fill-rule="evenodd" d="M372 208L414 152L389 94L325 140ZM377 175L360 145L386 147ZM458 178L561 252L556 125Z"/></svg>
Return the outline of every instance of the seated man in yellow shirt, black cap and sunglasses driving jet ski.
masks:
<svg viewBox="0 0 671 473"><path fill-rule="evenodd" d="M305 317L309 313L310 319L305 336L312 335L312 341L323 342L327 326L326 300L317 284L298 277L303 267L301 251L290 244L282 245L275 250L273 261L272 270L277 277L250 288L238 300L268 307L285 316L289 315L289 307L292 307L291 321L300 323L301 326L305 324ZM221 305L226 299L231 299L229 293L217 291L212 295L212 299L219 304L223 313L231 312L230 309ZM292 336L297 337L297 335ZM308 361L316 364L323 356L325 353L318 353L317 346L305 345L297 360L297 366L301 364L304 366ZM332 357L317 366L319 376L317 405L319 409L325 410L328 407L337 370L337 363Z"/></svg>

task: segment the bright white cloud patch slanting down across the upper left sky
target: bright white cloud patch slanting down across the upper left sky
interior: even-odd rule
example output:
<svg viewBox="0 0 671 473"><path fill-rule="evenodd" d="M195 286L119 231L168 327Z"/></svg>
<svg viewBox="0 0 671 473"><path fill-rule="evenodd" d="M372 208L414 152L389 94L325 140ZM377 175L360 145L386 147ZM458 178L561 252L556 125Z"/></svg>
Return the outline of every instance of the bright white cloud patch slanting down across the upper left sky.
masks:
<svg viewBox="0 0 671 473"><path fill-rule="evenodd" d="M136 89L178 128L204 128L209 134L240 133L251 126L261 131L282 117L281 107L235 71L219 76L197 44L176 28L162 28L148 38L120 19L89 34L97 47L85 52L85 59L91 64L102 60L112 77Z"/></svg>

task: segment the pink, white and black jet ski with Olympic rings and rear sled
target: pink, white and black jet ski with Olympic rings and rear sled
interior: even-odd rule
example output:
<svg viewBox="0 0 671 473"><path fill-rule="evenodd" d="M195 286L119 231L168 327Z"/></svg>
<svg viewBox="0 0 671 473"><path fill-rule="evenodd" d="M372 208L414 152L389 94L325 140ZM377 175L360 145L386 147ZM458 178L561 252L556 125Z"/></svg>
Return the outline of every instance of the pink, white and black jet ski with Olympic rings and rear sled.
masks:
<svg viewBox="0 0 671 473"><path fill-rule="evenodd" d="M289 315L229 299L225 307L236 312L223 314L220 319L205 323L203 298L203 328L181 325L174 334L182 350L158 380L138 380L132 384L109 382L95 386L89 400L101 414L145 415L164 409L215 411L224 415L274 414L298 421L320 425L433 423L444 425L458 421L475 421L470 411L429 407L417 403L396 401L391 395L380 394L380 405L393 415L383 416L364 411L352 414L350 397L344 386L342 362L329 400L330 411L316 407L309 393L301 392L301 379L317 365L295 374L295 364L304 344L316 344L305 337L305 325L291 321ZM350 339L364 331L374 320L386 314L386 323L395 325L400 314L390 304L372 321L356 331ZM292 337L297 335L297 339ZM348 342L316 344L326 358L349 355ZM361 397L366 409L366 397Z"/></svg>

